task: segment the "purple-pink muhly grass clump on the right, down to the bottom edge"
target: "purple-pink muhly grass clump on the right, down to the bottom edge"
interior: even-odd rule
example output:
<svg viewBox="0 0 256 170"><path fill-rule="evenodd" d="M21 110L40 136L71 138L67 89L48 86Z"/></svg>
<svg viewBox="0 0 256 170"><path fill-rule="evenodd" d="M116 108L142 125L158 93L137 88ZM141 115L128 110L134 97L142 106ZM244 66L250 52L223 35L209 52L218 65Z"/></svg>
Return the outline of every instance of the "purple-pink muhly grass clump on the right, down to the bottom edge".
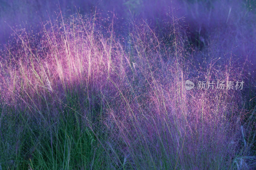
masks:
<svg viewBox="0 0 256 170"><path fill-rule="evenodd" d="M241 93L187 91L184 83L243 76L230 60L226 65L206 63L194 73L200 77L189 77L193 66L184 59L188 54L179 25L171 25L171 45L166 46L145 22L132 22L129 55L135 75L126 74L124 86L112 81L119 96L108 110L115 125L113 140L124 152L124 163L135 169L239 169L234 160L242 147L240 126L246 113Z"/></svg>

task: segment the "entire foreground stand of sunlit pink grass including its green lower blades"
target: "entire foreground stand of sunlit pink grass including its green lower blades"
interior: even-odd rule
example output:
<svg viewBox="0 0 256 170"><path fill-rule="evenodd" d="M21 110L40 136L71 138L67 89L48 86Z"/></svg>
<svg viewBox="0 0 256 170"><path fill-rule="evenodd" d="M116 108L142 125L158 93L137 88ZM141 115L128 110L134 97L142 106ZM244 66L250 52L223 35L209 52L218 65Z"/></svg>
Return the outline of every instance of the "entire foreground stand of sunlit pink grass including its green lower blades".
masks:
<svg viewBox="0 0 256 170"><path fill-rule="evenodd" d="M127 40L97 15L15 31L0 61L0 169L255 167L241 92L184 86L240 81L243 67L189 62L175 19L164 44L146 21Z"/></svg>

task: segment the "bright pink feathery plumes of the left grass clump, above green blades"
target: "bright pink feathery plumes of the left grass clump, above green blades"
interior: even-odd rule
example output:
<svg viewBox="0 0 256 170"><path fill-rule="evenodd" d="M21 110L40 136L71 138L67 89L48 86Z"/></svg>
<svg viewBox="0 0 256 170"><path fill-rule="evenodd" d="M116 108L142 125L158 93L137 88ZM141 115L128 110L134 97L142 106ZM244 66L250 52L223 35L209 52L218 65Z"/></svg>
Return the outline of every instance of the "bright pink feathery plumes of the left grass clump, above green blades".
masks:
<svg viewBox="0 0 256 170"><path fill-rule="evenodd" d="M112 56L121 53L122 47L111 42L114 34L99 20L94 15L91 20L77 17L49 22L50 27L37 35L40 39L33 32L16 31L12 46L2 54L2 102L20 104L21 109L23 104L37 107L61 101L70 92L91 96L95 89L106 88L108 74L119 67L121 59L109 60L110 43L116 49Z"/></svg>

